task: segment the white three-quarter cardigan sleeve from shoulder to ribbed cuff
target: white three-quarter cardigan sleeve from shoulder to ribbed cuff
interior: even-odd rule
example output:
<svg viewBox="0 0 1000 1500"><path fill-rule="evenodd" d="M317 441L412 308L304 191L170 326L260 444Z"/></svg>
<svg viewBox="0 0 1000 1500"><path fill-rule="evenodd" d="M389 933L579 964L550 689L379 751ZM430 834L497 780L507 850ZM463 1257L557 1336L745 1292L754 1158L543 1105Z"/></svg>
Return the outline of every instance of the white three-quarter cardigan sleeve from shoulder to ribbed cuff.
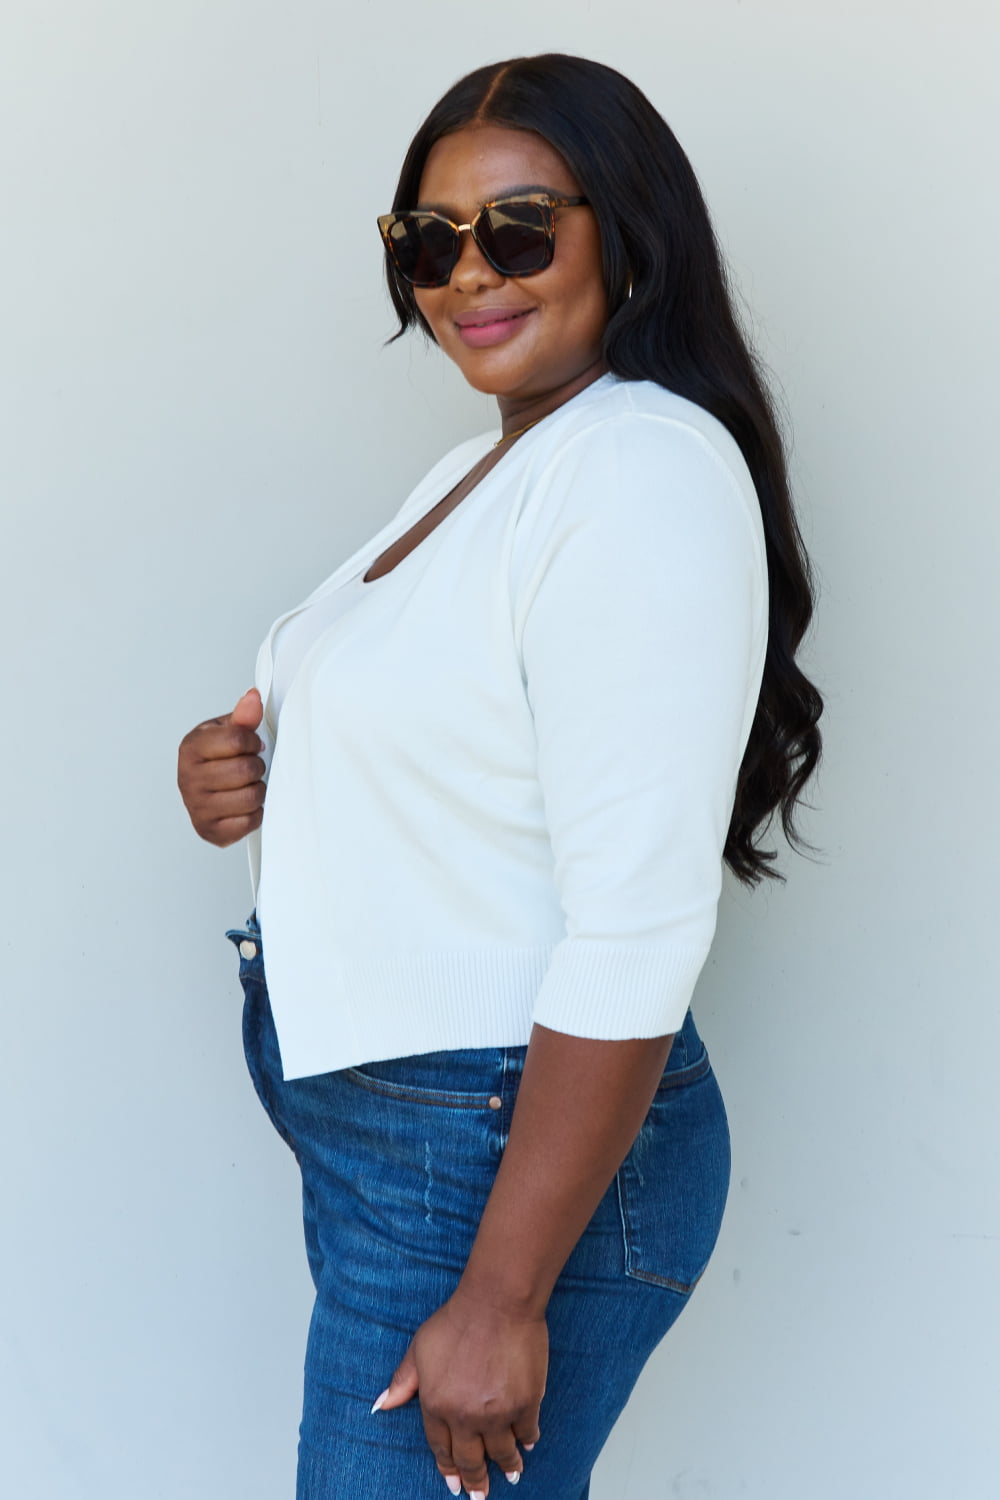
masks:
<svg viewBox="0 0 1000 1500"><path fill-rule="evenodd" d="M735 444L634 412L567 444L520 519L514 632L565 918L534 1020L664 1035L715 932L760 687L757 498Z"/></svg>

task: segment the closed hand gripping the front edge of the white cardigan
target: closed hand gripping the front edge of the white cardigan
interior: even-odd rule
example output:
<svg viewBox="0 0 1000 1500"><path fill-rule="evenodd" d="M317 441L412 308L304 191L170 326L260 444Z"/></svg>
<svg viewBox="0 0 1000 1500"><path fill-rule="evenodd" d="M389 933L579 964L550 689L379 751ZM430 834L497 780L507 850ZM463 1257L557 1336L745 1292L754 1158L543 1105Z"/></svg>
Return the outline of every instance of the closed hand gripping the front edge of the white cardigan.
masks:
<svg viewBox="0 0 1000 1500"><path fill-rule="evenodd" d="M177 784L195 832L225 849L264 818L264 762L256 726L264 717L255 687L231 714L205 718L177 752Z"/></svg>

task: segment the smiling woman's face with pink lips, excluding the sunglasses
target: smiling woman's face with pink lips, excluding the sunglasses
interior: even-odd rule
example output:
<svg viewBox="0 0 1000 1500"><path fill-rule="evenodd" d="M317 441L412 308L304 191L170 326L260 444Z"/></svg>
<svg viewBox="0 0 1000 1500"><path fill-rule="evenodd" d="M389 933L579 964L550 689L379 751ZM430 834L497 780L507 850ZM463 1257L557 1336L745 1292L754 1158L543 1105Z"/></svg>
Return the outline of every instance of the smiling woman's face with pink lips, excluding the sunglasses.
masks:
<svg viewBox="0 0 1000 1500"><path fill-rule="evenodd" d="M534 130L471 124L433 146L414 207L471 224L490 198L523 189L580 194L562 156ZM534 276L501 276L466 231L448 284L414 294L444 352L501 411L558 398L601 362L607 298L589 207L556 208L555 255Z"/></svg>

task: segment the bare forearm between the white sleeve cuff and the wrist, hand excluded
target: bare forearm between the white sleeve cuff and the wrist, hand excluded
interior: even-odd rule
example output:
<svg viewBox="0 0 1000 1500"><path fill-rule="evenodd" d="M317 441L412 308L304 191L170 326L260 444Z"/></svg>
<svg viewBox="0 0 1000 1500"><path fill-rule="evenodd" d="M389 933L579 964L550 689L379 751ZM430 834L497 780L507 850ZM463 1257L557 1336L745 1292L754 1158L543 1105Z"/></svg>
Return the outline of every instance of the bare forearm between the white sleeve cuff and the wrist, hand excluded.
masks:
<svg viewBox="0 0 1000 1500"><path fill-rule="evenodd" d="M628 1155L673 1036L591 1041L535 1026L510 1140L463 1290L540 1316Z"/></svg>

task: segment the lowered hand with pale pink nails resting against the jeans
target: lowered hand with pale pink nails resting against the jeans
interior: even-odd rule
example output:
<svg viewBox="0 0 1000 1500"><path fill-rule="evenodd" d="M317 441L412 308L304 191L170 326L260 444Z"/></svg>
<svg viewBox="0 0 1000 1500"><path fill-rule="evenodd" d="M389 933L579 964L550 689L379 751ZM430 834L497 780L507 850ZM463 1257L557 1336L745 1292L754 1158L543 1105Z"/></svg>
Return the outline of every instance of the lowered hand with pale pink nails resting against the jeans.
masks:
<svg viewBox="0 0 1000 1500"><path fill-rule="evenodd" d="M544 1317L516 1318L462 1287L414 1334L378 1410L420 1394L424 1432L451 1494L490 1488L492 1458L517 1484L517 1449L538 1442L538 1407L549 1368Z"/></svg>

